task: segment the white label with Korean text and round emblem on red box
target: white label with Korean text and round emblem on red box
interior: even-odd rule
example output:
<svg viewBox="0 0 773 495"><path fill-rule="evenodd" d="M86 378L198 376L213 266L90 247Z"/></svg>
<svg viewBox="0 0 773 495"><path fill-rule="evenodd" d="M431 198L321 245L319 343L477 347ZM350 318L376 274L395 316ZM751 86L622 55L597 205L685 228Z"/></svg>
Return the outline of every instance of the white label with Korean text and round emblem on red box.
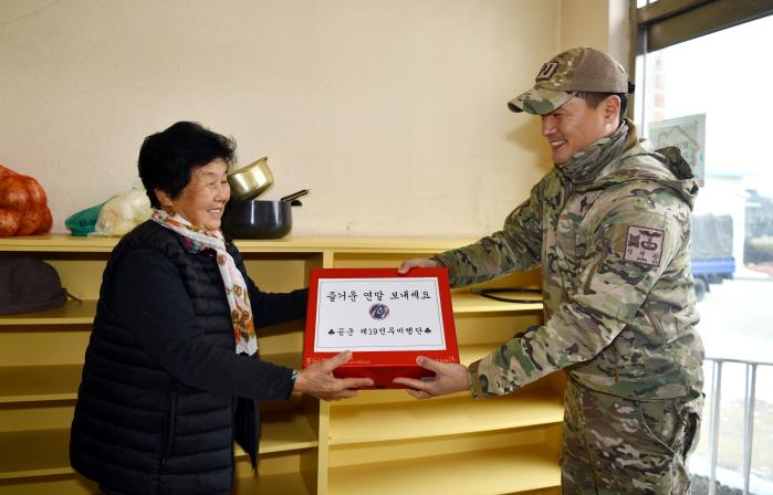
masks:
<svg viewBox="0 0 773 495"><path fill-rule="evenodd" d="M437 278L318 282L315 352L446 349Z"/></svg>

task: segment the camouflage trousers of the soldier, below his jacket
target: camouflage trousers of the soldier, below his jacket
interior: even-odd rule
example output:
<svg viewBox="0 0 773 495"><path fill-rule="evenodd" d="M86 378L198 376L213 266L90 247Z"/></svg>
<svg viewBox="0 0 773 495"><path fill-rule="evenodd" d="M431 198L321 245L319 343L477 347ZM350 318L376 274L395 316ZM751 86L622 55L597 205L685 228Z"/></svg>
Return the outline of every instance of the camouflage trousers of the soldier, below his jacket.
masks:
<svg viewBox="0 0 773 495"><path fill-rule="evenodd" d="M690 493L687 456L698 443L702 398L636 401L568 378L564 401L563 493Z"/></svg>

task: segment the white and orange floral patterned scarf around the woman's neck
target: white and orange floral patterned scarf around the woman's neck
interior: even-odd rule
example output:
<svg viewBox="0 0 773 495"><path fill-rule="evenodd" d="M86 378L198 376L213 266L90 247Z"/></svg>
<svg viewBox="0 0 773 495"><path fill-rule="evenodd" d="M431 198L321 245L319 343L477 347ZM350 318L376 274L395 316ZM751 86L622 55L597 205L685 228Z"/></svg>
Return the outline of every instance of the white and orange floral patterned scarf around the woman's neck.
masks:
<svg viewBox="0 0 773 495"><path fill-rule="evenodd" d="M241 272L237 268L233 257L226 251L226 241L218 231L212 234L190 224L178 214L170 215L164 210L153 210L153 221L182 235L184 240L191 241L186 244L195 252L211 249L217 253L218 268L222 283L226 286L226 297L231 308L231 322L233 323L233 338L237 344L237 354L252 356L258 351L258 337L252 320L250 296L247 293L247 284Z"/></svg>

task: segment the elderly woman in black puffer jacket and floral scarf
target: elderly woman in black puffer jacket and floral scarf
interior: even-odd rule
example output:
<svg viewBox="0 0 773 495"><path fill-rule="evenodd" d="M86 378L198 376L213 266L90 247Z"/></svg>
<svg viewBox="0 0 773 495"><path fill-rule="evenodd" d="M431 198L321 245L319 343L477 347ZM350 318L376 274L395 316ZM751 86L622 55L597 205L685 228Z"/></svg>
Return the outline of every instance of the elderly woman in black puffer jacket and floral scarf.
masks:
<svg viewBox="0 0 773 495"><path fill-rule="evenodd" d="M154 213L105 268L70 443L73 467L105 493L229 493L233 440L255 463L257 401L372 385L333 377L348 354L303 371L257 358L255 328L304 317L306 291L261 292L223 239L233 155L186 122L139 151Z"/></svg>

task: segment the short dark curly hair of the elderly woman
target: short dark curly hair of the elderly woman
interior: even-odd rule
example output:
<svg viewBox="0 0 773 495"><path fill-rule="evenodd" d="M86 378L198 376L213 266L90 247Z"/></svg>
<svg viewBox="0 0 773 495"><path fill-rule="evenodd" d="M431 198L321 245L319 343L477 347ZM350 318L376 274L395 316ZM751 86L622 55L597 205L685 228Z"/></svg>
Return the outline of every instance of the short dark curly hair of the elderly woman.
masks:
<svg viewBox="0 0 773 495"><path fill-rule="evenodd" d="M236 159L233 138L221 136L195 122L178 122L145 138L137 168L154 208L160 208L155 189L177 198L190 182L190 172L218 158L230 166Z"/></svg>

